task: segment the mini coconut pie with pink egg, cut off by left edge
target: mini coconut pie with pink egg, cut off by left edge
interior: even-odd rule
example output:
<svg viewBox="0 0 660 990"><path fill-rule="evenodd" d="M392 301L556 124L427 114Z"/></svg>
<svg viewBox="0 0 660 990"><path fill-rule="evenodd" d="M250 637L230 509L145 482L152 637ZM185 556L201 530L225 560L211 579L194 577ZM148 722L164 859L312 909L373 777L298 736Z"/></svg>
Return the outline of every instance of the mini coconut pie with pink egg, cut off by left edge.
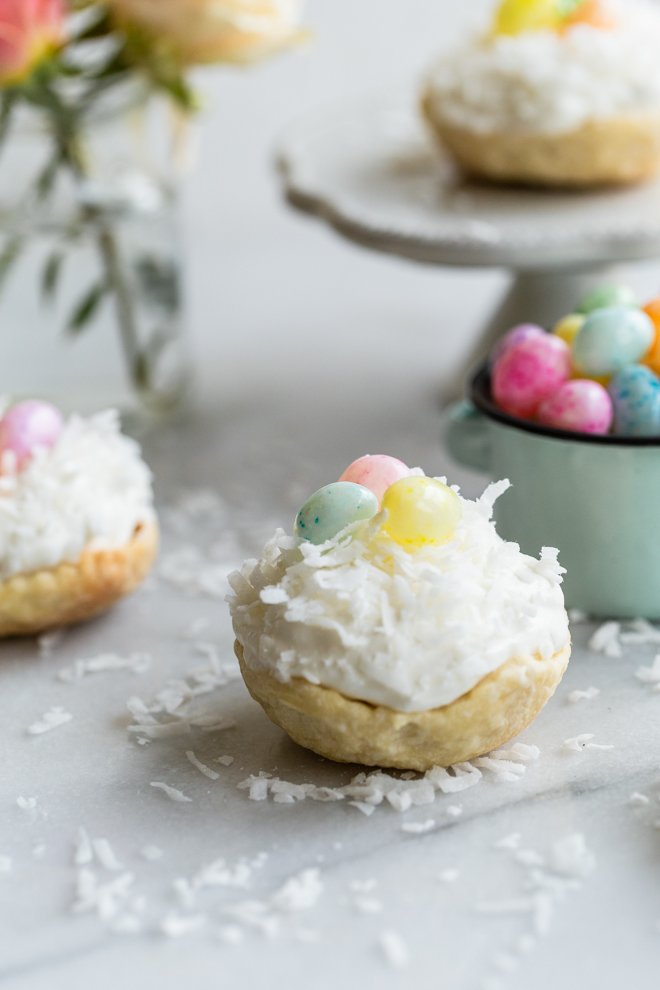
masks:
<svg viewBox="0 0 660 990"><path fill-rule="evenodd" d="M27 401L0 418L0 636L90 618L156 554L151 474L114 412L64 421Z"/></svg>

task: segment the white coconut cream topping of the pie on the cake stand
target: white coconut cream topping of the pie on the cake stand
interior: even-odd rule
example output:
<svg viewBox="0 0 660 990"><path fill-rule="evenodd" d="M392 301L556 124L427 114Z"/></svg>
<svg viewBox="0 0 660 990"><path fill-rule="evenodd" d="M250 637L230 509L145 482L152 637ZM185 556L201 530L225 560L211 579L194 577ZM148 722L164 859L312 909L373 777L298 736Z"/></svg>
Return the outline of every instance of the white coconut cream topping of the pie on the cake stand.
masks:
<svg viewBox="0 0 660 990"><path fill-rule="evenodd" d="M439 116L481 133L561 133L589 120L660 111L660 11L625 0L608 5L615 28L576 25L473 38L428 78Z"/></svg>

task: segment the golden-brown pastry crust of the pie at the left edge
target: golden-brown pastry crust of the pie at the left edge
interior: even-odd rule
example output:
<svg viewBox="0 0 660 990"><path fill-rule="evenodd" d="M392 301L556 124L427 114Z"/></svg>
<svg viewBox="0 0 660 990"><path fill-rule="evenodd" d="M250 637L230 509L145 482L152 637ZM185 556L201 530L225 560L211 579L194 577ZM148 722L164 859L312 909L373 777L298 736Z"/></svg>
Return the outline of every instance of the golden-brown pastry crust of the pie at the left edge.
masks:
<svg viewBox="0 0 660 990"><path fill-rule="evenodd" d="M75 563L7 578L0 582L0 637L33 635L105 611L144 580L157 549L153 522L137 526L123 547L88 547Z"/></svg>

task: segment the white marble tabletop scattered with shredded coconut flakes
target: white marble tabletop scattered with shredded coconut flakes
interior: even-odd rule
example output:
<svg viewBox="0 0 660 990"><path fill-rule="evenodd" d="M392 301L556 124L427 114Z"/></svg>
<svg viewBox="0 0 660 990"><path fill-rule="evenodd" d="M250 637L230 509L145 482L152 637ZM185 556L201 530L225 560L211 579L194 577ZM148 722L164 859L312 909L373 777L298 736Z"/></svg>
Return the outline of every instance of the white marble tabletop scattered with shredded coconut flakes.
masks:
<svg viewBox="0 0 660 990"><path fill-rule="evenodd" d="M657 986L660 694L636 677L657 647L626 644L621 657L606 657L585 649L591 627L576 625L569 673L521 737L540 749L537 760L522 764L524 775L498 782L484 771L473 788L438 793L405 812L387 802L367 817L348 801L250 800L237 785L260 771L339 787L356 770L294 746L236 680L186 708L194 718L234 720L234 728L193 727L144 745L128 731L131 696L151 702L171 678L208 668L200 643L212 644L223 668L232 664L224 572L291 516L301 492L336 475L349 452L387 446L443 469L435 407L413 400L394 428L387 417L361 418L352 436L348 421L359 406L335 416L319 400L327 420L305 424L284 399L235 417L225 410L220 429L209 412L161 435L147 445L169 506L157 576L113 614L67 633L50 655L40 657L33 642L2 647L10 717L1 737L0 854L12 859L0 876L3 986L104 990L156 985L156 978L163 988L182 981L330 988L363 980L452 990L550 990L558 981L585 990L614 990L624 980L639 990ZM266 414L280 424L277 440L263 430ZM220 500L181 501L175 461L193 489L212 485ZM466 483L472 491L479 484ZM77 660L105 652L145 653L150 665L60 678ZM589 687L600 694L569 702L569 692ZM53 706L72 719L31 735L28 728ZM582 733L611 748L564 747ZM217 779L190 764L189 750ZM234 758L230 766L216 762L224 755ZM173 802L151 781L191 800ZM635 792L648 803L631 803ZM20 807L19 797L36 798L35 807ZM402 828L430 821L423 834ZM119 868L76 866L81 827L110 842ZM497 848L512 835L514 848ZM557 843L575 836L584 837L588 854L558 875ZM163 855L148 862L141 850L153 844ZM182 878L219 858L232 868L244 859L253 864L244 887L200 887L192 899L182 893ZM319 871L316 901L293 913L274 906L283 884L309 869ZM106 894L76 909L81 870L99 885L120 887L130 874L129 896ZM232 912L250 900L274 919L266 933L236 922ZM163 933L163 925L190 918L200 927L189 934ZM124 924L139 931L114 930ZM240 942L227 944L236 932ZM385 933L405 946L402 968L387 960Z"/></svg>

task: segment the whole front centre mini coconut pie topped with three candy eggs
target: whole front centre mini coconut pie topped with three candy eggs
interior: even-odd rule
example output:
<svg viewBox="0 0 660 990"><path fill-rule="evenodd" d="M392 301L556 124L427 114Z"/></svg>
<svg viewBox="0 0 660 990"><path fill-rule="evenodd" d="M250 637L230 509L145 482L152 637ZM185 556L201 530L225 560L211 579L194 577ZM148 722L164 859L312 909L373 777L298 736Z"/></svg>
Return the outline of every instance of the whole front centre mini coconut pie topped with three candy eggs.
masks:
<svg viewBox="0 0 660 990"><path fill-rule="evenodd" d="M385 455L316 492L293 536L230 577L245 683L333 760L427 770L525 728L570 656L557 551L540 559L477 501Z"/></svg>

